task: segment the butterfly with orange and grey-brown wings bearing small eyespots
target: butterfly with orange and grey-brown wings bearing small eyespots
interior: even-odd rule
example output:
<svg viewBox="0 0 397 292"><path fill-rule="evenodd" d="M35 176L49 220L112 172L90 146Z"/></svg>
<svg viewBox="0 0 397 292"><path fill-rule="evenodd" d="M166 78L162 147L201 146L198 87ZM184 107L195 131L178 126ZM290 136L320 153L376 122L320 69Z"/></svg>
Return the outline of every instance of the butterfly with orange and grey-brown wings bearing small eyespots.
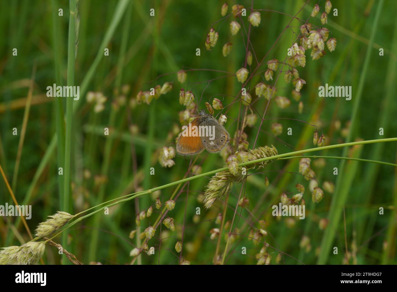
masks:
<svg viewBox="0 0 397 292"><path fill-rule="evenodd" d="M195 155L206 149L210 153L222 150L229 141L229 133L218 121L204 110L186 127L176 143L176 152L180 155ZM194 131L197 127L198 131ZM191 131L190 131L191 129ZM204 129L204 130L203 130ZM189 130L189 132L187 131Z"/></svg>

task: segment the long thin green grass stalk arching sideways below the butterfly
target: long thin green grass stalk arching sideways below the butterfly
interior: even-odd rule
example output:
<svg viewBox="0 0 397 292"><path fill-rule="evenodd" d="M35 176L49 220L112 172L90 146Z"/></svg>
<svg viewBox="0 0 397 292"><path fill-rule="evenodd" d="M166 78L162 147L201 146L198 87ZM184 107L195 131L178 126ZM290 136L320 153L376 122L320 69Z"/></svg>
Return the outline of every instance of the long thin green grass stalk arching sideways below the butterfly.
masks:
<svg viewBox="0 0 397 292"><path fill-rule="evenodd" d="M281 158L284 158L284 157L289 157L289 156L302 154L302 153L313 152L313 151L321 151L321 150L326 150L326 149L335 149L335 148L348 147L348 146L354 146L354 145L365 145L365 144L393 142L393 141L397 141L397 137L395 137L395 138L386 138L386 139L376 139L376 140L366 140L366 141L356 141L356 142L342 143L342 144L335 144L335 145L328 145L328 146L304 149L304 150L299 150L299 151L294 151L294 152L289 152L289 153L283 153L283 154L279 154L279 155L275 155L275 156L271 156L271 157L265 157L265 158L261 158L261 159L256 159L256 160L252 160L252 161L248 161L248 162L243 162L243 163L240 163L239 166L249 165L249 164L258 163L258 162L262 162L262 161L281 159ZM392 165L394 166L395 164L392 164ZM224 170L227 170L227 169L228 169L227 167L223 167L223 168L219 168L219 169L216 169L216 170L211 170L209 172L205 172L205 173L202 173L202 174L197 174L197 175L191 176L189 178L184 178L184 179L178 180L176 182L171 182L171 183L165 184L163 186L158 186L156 188L149 189L149 190L146 190L146 191L140 191L140 192L137 192L137 193L131 193L129 195L125 195L123 197L119 197L119 198L111 200L111 201L114 201L114 200L119 199L118 201L116 201L114 203L111 203L111 204L108 204L105 207L112 207L114 205L118 205L119 203L130 201L130 200L135 199L137 197L141 197L143 195L147 195L149 193L153 193L154 191L157 191L157 190L162 190L162 189L165 189L165 188L168 188L168 187L171 187L171 186L180 185L180 184L183 184L184 182L189 182L191 180L195 180L195 179L201 178L203 176L210 176L212 174L216 174L217 172L224 171ZM79 216L79 215L81 215L81 214L83 214L83 213L85 213L85 212L87 212L89 210L92 210L94 208L97 208L97 207L100 207L102 205L105 205L107 203L108 202L105 202L105 203L101 203L99 205L96 205L94 207L91 207L90 209L87 209L85 211L82 211L82 212L74 215L73 218L75 218L75 217L77 217L77 216ZM103 208L100 208L100 209L95 210L95 211L93 211L91 213L88 213L87 215L79 217L76 220L74 220L73 222L69 222L69 224L64 226L64 228L62 228L56 235L54 235L52 238L50 238L50 240L52 240L53 238L55 238L56 236L58 236L59 234L61 234L65 230L69 229L71 226L73 226L77 222L80 222L81 220L83 220L85 218L91 217L92 215L94 215L94 214L96 214L96 213L98 213L100 211L103 211ZM158 222L158 220L157 220L157 222ZM39 238L35 238L35 239L33 239L33 241L36 241L38 239Z"/></svg>

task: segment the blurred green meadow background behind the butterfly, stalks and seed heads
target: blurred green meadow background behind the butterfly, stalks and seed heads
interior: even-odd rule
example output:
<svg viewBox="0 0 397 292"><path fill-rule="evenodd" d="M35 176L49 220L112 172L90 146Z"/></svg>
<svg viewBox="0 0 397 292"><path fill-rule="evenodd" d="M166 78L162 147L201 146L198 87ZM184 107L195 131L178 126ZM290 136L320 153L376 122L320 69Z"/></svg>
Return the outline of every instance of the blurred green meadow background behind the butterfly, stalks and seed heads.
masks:
<svg viewBox="0 0 397 292"><path fill-rule="evenodd" d="M330 37L337 39L336 50L330 53L326 49L326 56L314 61L310 58L310 52L306 52L306 66L298 68L300 77L306 80L306 85L301 90L303 113L299 114L298 102L291 99L293 86L286 84L281 74L276 85L277 95L291 99L291 106L280 109L274 102L270 102L265 118L303 120L322 128L327 145L343 143L346 136L343 130L347 130L347 123L351 121L359 81L363 78L362 96L358 104L357 117L353 122L353 140L395 137L397 122L393 117L397 109L397 101L394 98L397 3L392 0L384 2L374 32L374 42L370 43L370 34L380 1L331 2L332 9L338 9L338 16L333 16L331 11L328 23L324 27L330 30ZM0 164L10 184L15 181L13 191L19 204L29 195L28 202L32 205L33 216L27 222L32 231L39 222L58 210L75 214L108 199L133 193L134 189L147 190L183 178L189 167L189 157L177 155L174 159L175 166L172 168L162 168L158 163L159 150L162 146L175 147L176 135L173 128L175 125L181 126L179 112L185 108L178 101L179 89L184 87L185 91L192 90L197 101L202 96L199 107L204 108L204 102L212 103L211 97L214 95L234 96L241 88L241 84L233 76L216 79L208 85L208 80L224 75L208 70L187 72L187 82L184 85L177 81L176 72L181 69L205 68L234 73L244 66L247 41L245 33L244 41L241 32L236 36L230 35L229 22L232 17L216 23L222 18L220 10L224 1L131 0L126 3L110 42L105 46L109 48L109 56L103 56L103 52L98 50L101 49L100 44L114 19L119 2L80 0L78 4L80 23L74 80L75 85L81 86L80 91L82 82L85 82L85 92L80 92L81 101L73 114L72 187L69 210L62 210L58 143L55 141L51 144L53 135L57 133L57 115L59 117L60 108L57 107L54 98L46 97L46 87L53 83L66 85L69 3L64 0L0 1ZM230 13L231 6L237 3L227 3ZM304 3L301 0L254 1L254 9L287 14L261 11L261 23L259 27L251 28L250 37L259 60L266 53L268 55L264 62L273 58L284 60L287 48L297 37L302 22L296 19L292 21L291 27L283 33L271 50L270 48L291 20L289 15L295 15ZM308 19L316 3L321 8L321 14L324 11L323 0L308 1L297 16L300 19ZM239 4L248 8L251 1L243 0ZM63 9L63 16L58 16L59 8ZM149 15L151 8L155 9L154 17ZM314 18L310 17L309 22L320 26L320 14ZM248 29L247 19L244 19L244 23L245 29ZM204 42L212 25L219 31L220 37L213 50L207 51ZM244 32L243 27L241 31ZM222 46L228 41L233 43L233 49L229 56L224 57ZM13 48L17 48L17 56L12 56ZM196 56L196 48L200 48L200 56ZM379 48L384 49L384 56L379 55ZM368 71L363 72L367 50L370 50L370 63ZM101 55L101 58L94 68L92 77L87 78L97 54ZM37 70L33 96L28 110L29 116L26 117L29 84L35 64ZM250 72L255 66L254 61ZM263 70L266 70L266 64L262 65L258 72ZM262 82L263 75L261 73L253 78L251 89L256 83ZM150 105L139 104L130 107L130 100L135 98L139 91L149 90L166 81L173 82L170 93L153 100ZM318 97L318 86L325 83L335 86L351 85L353 99L345 101L343 98ZM269 84L274 84L274 81ZM116 102L121 95L122 85L130 87L129 92L125 94L126 103L112 109L112 102ZM101 92L107 97L103 111L94 112L93 106L86 102L88 91ZM256 98L254 92L251 94L253 99ZM234 100L231 96L216 97L222 100L224 106L230 104L225 108L228 110L225 127L234 136L240 102L231 104ZM64 112L66 99L60 100ZM262 115L266 104L267 101L262 98L254 103L254 107ZM218 114L219 111L215 112ZM17 178L13 178L24 116L27 118L25 139L21 148ZM337 121L341 124L340 129L335 128ZM278 137L279 140L271 134L270 128L274 122L283 125L284 130ZM131 123L139 129L134 135L129 131ZM255 141L259 124L260 118L254 127L245 130L250 148ZM14 127L17 128L18 135L12 134ZM111 133L117 134L104 136L105 127L110 128ZM293 129L293 135L287 135L286 129L289 127ZM380 127L384 128L383 136L379 135ZM264 132L260 132L256 146L273 144L278 153L313 147L312 137L315 128L305 123L285 119L265 120L261 129ZM136 159L131 159L134 151ZM342 151L333 149L311 155L341 156ZM348 154L394 163L396 145L365 145L349 150ZM284 253L280 264L318 263L318 256L323 252L328 254L325 263L346 263L346 244L349 263L395 264L395 168L366 162L346 162L343 173L338 174L341 176L340 194L325 192L324 199L314 205L308 191L308 182L296 174L298 162L299 159L277 161L262 170L268 171L266 176L271 185L267 188L264 186L263 174L249 176L243 189L249 198L249 205L246 209L238 208L233 225L239 228L237 233L242 235L231 244L232 250L227 253L225 263L257 262L255 256L260 252L263 243L254 244L252 240L247 240L247 236L250 226L258 228L258 221L266 220L266 242L271 246L267 251L271 255L272 264L276 263L279 251ZM206 172L223 167L224 161L218 154L204 152L200 154L197 164ZM312 164L315 164L314 161ZM320 186L324 181L336 182L333 168L339 165L339 160L327 159L325 166L313 166ZM150 167L155 168L153 176L149 175ZM168 213L175 219L175 231L167 230L162 224L160 250L158 228L156 238L149 241L149 246L155 247L155 255L142 254L142 263L177 264L179 254L174 246L177 240L181 240L182 226L185 225L183 257L192 264L212 264L217 241L210 239L210 230L219 228L215 219L218 213L223 212L224 201L218 201L208 210L204 209L200 194L203 193L208 180L208 177L204 177L191 181L187 199L187 190L183 189L176 200L175 209ZM284 217L278 220L272 217L271 206L278 203L281 193L285 192L289 197L293 195L296 183L301 183L306 188L306 219ZM240 189L241 185L237 185L230 194L226 220L233 218ZM160 197L166 201L174 190L175 187L166 188L160 192ZM69 230L67 246L64 248L86 264L91 261L103 264L130 263L132 257L129 256L129 252L137 244L137 235L132 240L129 239L130 231L136 228L135 216L137 211L146 211L154 203L157 195L158 193L141 197L139 206L136 205L137 201L128 201L112 207L110 215L99 213L83 220ZM320 230L318 222L328 216L334 218L329 211L335 195L346 197L343 201L334 202L339 207L345 207L345 220L342 216L333 222L336 231L330 242L332 247L338 247L337 255L332 253L332 249L318 250L324 236L324 230ZM12 203L12 199L2 178L0 204L4 205L6 202ZM201 209L199 216L195 216L196 207ZM384 207L384 215L379 215L379 207ZM155 211L152 217L142 220L140 232L149 226L150 222L153 223L157 216L158 213ZM29 241L23 225L16 226L15 221L15 218L0 218L1 246L19 245ZM98 236L97 240L95 234ZM227 232L222 234L221 254L225 248L225 236ZM310 243L300 246L304 236L309 238ZM61 242L61 237L55 238L54 241ZM247 248L246 255L241 254L242 247ZM59 264L61 259L56 248L47 246L44 263Z"/></svg>

